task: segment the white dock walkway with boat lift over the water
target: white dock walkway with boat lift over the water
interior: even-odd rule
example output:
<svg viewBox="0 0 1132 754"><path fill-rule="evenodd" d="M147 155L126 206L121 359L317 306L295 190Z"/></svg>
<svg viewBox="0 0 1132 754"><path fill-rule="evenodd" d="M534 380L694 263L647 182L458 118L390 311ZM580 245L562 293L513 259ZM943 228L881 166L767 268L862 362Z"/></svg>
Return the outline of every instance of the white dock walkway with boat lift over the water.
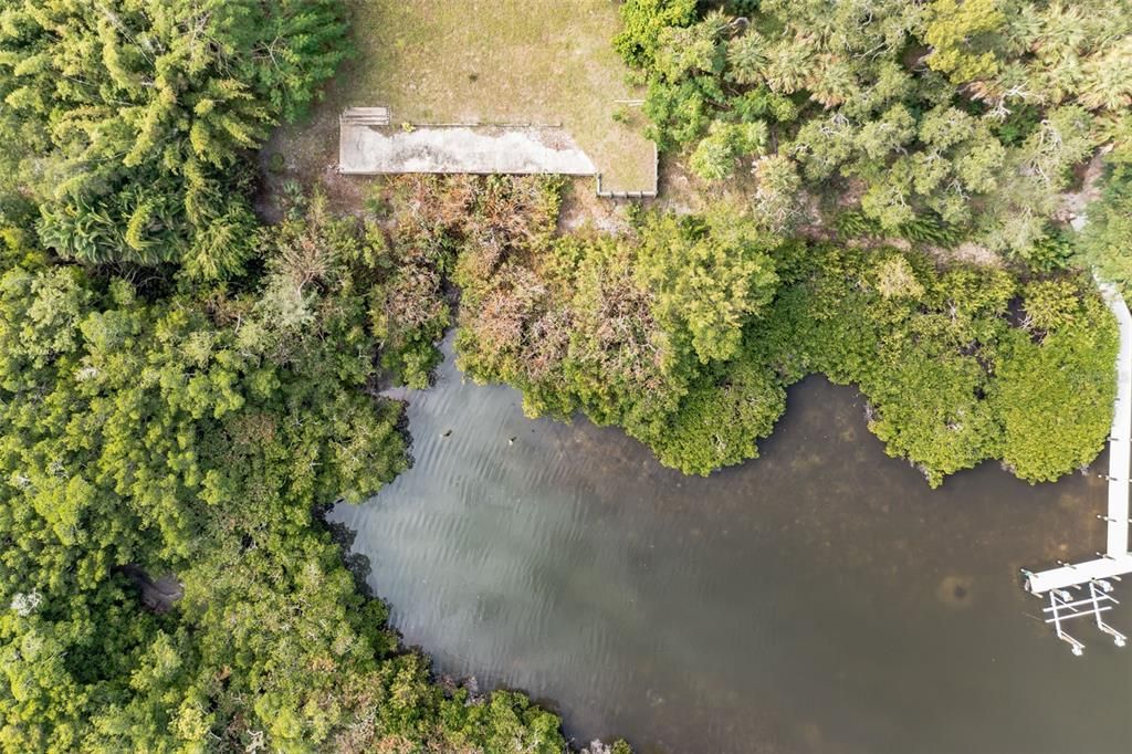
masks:
<svg viewBox="0 0 1132 754"><path fill-rule="evenodd" d="M1084 644L1073 639L1062 624L1073 618L1091 617L1097 628L1108 634L1113 643L1124 646L1127 636L1100 619L1101 612L1120 605L1112 592L1113 582L1132 573L1129 551L1129 486L1132 483L1132 314L1116 286L1100 284L1105 302L1116 316L1121 332L1121 349L1116 358L1116 401L1113 405L1113 429L1108 438L1108 515L1097 516L1107 524L1105 552L1095 560L1064 563L1056 568L1034 573L1022 569L1026 591L1035 597L1048 594L1049 606L1043 608L1045 623L1053 624L1057 639L1066 642L1080 657ZM1073 590L1073 591L1070 591Z"/></svg>

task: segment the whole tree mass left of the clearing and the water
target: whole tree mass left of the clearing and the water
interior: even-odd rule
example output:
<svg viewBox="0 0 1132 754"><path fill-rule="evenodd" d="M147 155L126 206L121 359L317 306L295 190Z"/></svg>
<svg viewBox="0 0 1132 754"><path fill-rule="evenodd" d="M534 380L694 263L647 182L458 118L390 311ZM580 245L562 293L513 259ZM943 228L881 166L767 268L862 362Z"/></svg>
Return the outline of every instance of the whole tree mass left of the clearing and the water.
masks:
<svg viewBox="0 0 1132 754"><path fill-rule="evenodd" d="M427 382L457 245L514 223L488 182L392 228L292 189L259 225L247 157L342 19L0 2L0 751L565 749L522 694L434 683L317 515L405 468L378 365ZM144 608L146 572L183 597Z"/></svg>

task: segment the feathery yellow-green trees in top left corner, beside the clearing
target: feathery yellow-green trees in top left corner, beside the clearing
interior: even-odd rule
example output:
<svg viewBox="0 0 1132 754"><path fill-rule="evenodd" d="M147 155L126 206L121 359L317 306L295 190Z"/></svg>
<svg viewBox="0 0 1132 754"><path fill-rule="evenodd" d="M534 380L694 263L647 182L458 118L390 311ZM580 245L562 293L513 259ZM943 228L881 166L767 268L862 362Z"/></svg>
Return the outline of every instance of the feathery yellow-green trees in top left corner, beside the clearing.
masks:
<svg viewBox="0 0 1132 754"><path fill-rule="evenodd" d="M239 273L255 221L242 153L299 115L344 55L337 0L28 0L0 10L5 191L89 263ZM9 163L10 164L10 163Z"/></svg>

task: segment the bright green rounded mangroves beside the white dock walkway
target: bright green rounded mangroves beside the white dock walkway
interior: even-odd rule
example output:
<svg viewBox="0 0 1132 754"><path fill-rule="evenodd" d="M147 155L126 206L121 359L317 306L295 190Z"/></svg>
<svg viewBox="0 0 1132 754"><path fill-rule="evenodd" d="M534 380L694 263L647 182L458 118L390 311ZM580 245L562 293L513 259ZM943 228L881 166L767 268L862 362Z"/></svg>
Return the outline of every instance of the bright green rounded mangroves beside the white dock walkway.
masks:
<svg viewBox="0 0 1132 754"><path fill-rule="evenodd" d="M1041 310L1067 307L1073 326L1047 316L1054 334L1037 344L1031 329L1009 325L1015 283L1005 273L936 273L923 259L892 251L829 249L814 264L803 292L783 294L765 319L769 331L753 336L781 349L779 362L800 354L801 367L786 370L788 382L821 371L857 384L873 406L871 429L933 486L995 457L1023 479L1055 479L1099 452L1115 393L1116 332L1095 292L1078 284L1058 289L1065 306ZM1044 370L1035 374L1037 363ZM1066 375L1074 376L1070 384L1079 380L1075 387L1061 383L1044 397L1027 397L1035 380L1057 385ZM1066 412L1066 405L1075 409ZM1063 430L1041 429L1050 423ZM1045 455L1014 462L1026 446L1041 446Z"/></svg>

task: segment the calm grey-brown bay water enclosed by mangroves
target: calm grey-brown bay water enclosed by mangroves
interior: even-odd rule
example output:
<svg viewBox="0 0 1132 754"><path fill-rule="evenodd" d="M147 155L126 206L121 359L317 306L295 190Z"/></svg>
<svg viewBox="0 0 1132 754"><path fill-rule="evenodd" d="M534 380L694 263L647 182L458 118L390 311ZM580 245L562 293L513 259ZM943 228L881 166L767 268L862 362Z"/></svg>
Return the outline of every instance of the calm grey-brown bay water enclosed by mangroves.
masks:
<svg viewBox="0 0 1132 754"><path fill-rule="evenodd" d="M688 478L617 429L525 419L446 354L408 396L415 465L328 516L438 672L643 753L1132 752L1132 648L1079 622L1073 658L1018 582L1101 549L1104 457L929 490L854 389L809 378L763 457Z"/></svg>

